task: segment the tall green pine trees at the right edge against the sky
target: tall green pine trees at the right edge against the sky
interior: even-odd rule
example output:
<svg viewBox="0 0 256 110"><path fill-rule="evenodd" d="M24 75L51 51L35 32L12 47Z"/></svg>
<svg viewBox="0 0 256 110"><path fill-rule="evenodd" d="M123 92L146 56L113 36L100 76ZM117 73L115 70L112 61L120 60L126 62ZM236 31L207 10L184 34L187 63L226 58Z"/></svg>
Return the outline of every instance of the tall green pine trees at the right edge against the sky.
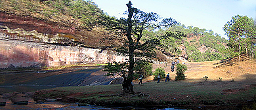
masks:
<svg viewBox="0 0 256 110"><path fill-rule="evenodd" d="M253 24L253 18L236 15L232 16L232 20L224 25L223 29L229 38L228 46L233 50L234 56L249 54L253 48L255 44L255 27ZM248 49L249 47L251 49Z"/></svg>

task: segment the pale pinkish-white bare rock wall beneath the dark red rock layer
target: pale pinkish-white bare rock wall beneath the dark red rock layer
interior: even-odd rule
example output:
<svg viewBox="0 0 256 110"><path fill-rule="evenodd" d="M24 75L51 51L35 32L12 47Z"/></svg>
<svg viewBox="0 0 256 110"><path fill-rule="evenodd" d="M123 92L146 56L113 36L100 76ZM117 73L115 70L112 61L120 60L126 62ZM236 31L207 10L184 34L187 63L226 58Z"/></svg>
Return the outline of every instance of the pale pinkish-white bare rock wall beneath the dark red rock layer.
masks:
<svg viewBox="0 0 256 110"><path fill-rule="evenodd" d="M125 60L109 49L53 45L5 33L0 33L0 42L0 68L104 64Z"/></svg>

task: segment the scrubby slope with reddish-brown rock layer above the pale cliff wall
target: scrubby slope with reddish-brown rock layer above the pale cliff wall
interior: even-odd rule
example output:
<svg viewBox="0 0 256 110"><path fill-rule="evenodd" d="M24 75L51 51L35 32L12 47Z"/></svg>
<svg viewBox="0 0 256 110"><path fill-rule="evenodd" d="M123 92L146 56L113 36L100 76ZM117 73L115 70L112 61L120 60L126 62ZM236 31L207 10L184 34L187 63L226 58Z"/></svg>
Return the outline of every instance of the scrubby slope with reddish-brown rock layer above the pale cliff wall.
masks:
<svg viewBox="0 0 256 110"><path fill-rule="evenodd" d="M100 43L106 34L95 28L103 12L89 1L1 0L0 3L2 33L40 41L46 38L43 42L64 45L104 47L109 44Z"/></svg>

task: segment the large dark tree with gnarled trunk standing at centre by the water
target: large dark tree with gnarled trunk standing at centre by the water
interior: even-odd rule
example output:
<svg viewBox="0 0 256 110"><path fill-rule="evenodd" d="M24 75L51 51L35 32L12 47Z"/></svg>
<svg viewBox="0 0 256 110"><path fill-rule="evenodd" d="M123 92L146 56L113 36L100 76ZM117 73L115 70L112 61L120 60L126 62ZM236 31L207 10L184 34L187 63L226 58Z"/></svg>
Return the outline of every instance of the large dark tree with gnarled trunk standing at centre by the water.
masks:
<svg viewBox="0 0 256 110"><path fill-rule="evenodd" d="M179 22L172 18L165 18L160 20L160 16L155 12L143 12L137 8L132 7L131 1L126 4L128 10L128 18L116 19L110 16L104 16L100 20L100 24L112 32L112 38L119 39L119 43L114 43L114 48L120 55L127 56L127 62L108 63L104 71L108 71L108 75L121 75L123 77L123 92L133 93L133 76L135 66L139 62L148 62L156 58L156 46L159 46L160 37L142 39L146 29L158 28L163 26L173 26ZM120 39L121 38L121 39Z"/></svg>

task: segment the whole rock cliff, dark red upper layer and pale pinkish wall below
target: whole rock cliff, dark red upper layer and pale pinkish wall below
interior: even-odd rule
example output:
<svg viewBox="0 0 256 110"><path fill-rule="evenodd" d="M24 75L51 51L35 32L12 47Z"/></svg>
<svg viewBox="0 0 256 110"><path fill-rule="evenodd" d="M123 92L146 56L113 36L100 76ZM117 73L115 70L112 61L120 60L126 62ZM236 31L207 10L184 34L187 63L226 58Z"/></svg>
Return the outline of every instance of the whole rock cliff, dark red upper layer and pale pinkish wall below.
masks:
<svg viewBox="0 0 256 110"><path fill-rule="evenodd" d="M106 48L107 42L100 43L104 36L0 11L0 68L123 62L123 56Z"/></svg>

